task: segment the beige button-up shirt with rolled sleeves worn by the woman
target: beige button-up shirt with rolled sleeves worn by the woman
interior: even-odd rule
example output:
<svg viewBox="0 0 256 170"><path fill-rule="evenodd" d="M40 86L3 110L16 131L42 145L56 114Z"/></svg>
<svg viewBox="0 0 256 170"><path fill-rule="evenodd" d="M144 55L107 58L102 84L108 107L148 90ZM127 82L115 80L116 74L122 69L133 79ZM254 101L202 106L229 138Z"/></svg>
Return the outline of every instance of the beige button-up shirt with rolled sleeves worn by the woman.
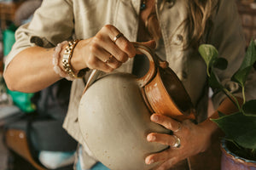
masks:
<svg viewBox="0 0 256 170"><path fill-rule="evenodd" d="M166 1L160 11L161 0L157 0L156 12L160 21L165 58L177 77L183 82L193 104L198 121L207 118L207 71L201 56L192 48L183 49L188 42L188 32L181 23L187 17L189 0ZM32 46L55 47L67 39L86 39L93 37L104 25L116 26L131 42L137 41L139 0L44 0L31 23L16 31L15 45L6 59L6 67L21 50ZM235 0L220 0L214 14L212 36L205 36L205 42L218 48L219 55L228 59L226 71L218 71L218 77L225 87L236 92L239 88L230 82L230 76L238 69L244 56L245 42ZM132 59L119 68L119 71L131 72ZM247 99L255 98L255 72L247 83ZM63 127L80 144L84 140L79 130L78 107L84 89L82 80L73 81L71 99ZM215 95L212 100L215 107L224 99L224 94ZM86 147L85 147L86 148ZM89 152L89 151L88 151ZM90 159L90 158L88 158ZM95 161L88 160L87 167Z"/></svg>

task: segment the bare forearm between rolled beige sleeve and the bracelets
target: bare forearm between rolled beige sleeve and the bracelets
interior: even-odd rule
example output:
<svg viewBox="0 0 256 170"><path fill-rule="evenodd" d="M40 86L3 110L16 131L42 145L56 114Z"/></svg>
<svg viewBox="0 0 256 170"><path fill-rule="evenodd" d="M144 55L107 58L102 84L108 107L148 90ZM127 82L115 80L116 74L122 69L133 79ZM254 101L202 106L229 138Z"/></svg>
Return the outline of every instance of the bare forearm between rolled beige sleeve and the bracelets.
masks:
<svg viewBox="0 0 256 170"><path fill-rule="evenodd" d="M54 48L32 47L17 54L4 72L10 90L33 93L60 80L53 70Z"/></svg>

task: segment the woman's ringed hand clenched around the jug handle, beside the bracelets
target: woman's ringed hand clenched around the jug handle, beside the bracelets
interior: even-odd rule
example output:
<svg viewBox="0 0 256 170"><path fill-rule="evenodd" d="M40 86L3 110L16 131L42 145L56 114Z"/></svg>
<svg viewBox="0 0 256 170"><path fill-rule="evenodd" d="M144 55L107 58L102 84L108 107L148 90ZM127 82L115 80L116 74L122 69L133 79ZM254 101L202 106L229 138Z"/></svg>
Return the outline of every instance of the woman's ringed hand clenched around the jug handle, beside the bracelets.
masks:
<svg viewBox="0 0 256 170"><path fill-rule="evenodd" d="M136 54L136 49L124 35L114 42L121 33L111 25L103 26L95 37L81 40L73 51L71 65L79 71L86 67L111 72Z"/></svg>

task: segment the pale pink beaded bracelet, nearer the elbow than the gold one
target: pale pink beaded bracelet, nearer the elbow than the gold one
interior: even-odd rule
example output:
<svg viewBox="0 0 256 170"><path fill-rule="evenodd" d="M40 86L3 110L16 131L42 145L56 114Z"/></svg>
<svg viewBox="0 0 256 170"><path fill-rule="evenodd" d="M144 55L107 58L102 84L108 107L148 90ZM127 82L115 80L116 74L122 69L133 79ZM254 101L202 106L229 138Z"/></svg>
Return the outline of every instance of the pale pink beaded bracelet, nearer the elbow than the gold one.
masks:
<svg viewBox="0 0 256 170"><path fill-rule="evenodd" d="M68 74L66 74L64 71L61 71L61 68L60 66L58 65L59 64L59 59L60 59L60 53L61 53L61 49L63 46L65 46L68 42L65 41L65 42L61 42L61 43L58 43L56 48L55 48L55 51L54 51L54 54L52 55L52 64L54 65L53 69L55 71L55 73L57 75L59 75L60 77L63 77L63 78L66 78L67 80L69 81L73 81L74 78L73 77L69 77Z"/></svg>

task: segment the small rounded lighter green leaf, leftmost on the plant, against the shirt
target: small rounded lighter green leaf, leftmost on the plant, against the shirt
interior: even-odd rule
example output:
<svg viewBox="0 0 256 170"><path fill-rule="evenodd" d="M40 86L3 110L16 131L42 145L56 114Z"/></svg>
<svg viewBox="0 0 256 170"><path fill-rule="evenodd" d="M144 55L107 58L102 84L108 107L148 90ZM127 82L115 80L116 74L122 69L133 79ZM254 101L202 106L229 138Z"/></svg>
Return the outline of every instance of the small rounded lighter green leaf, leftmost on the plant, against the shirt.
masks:
<svg viewBox="0 0 256 170"><path fill-rule="evenodd" d="M210 77L210 70L212 65L218 58L218 50L211 44L201 44L201 46L198 48L198 51L207 64L207 75Z"/></svg>

